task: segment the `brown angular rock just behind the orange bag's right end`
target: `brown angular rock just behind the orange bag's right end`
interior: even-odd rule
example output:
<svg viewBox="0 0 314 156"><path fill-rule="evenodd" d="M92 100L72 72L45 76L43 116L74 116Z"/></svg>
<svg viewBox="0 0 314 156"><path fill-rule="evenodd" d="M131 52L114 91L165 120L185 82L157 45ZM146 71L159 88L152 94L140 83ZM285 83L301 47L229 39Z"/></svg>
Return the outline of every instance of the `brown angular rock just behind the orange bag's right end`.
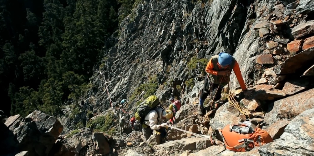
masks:
<svg viewBox="0 0 314 156"><path fill-rule="evenodd" d="M284 133L284 128L290 123L288 120L279 120L272 124L268 129L267 132L270 136L272 136L273 140L280 138L282 133Z"/></svg>

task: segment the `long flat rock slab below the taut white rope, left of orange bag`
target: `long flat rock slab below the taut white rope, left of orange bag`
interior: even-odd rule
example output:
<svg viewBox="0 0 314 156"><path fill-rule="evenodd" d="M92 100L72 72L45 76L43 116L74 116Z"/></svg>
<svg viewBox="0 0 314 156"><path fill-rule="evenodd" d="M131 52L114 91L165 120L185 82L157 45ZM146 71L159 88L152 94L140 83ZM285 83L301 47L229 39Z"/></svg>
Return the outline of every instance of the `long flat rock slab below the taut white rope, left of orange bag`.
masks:
<svg viewBox="0 0 314 156"><path fill-rule="evenodd" d="M174 150L177 152L183 152L187 150L199 151L212 146L210 139L204 138L184 138L181 140L169 141L160 145L155 145L157 150Z"/></svg>

